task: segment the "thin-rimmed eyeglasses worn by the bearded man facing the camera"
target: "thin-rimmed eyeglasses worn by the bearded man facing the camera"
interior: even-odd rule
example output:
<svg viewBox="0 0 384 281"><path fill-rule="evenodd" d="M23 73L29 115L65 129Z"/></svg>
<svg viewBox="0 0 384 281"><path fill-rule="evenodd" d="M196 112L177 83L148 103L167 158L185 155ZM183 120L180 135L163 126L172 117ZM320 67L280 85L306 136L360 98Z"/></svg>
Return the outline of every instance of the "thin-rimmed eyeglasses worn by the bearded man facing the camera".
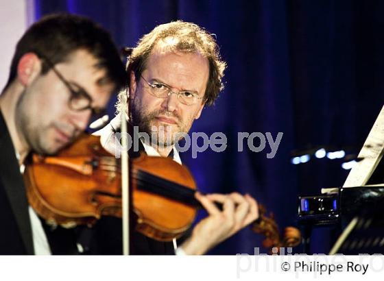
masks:
<svg viewBox="0 0 384 281"><path fill-rule="evenodd" d="M154 95L155 97L159 97L160 99L165 99L166 97L169 97L171 94L175 94L178 96L178 100L181 103L184 103L186 106L193 106L193 104L196 104L202 97L199 97L197 92L191 91L191 90L180 90L178 92L174 92L171 90L171 87L167 84L160 83L160 82L152 82L149 83L143 75L141 75L141 78L148 84L150 90L150 93Z"/></svg>

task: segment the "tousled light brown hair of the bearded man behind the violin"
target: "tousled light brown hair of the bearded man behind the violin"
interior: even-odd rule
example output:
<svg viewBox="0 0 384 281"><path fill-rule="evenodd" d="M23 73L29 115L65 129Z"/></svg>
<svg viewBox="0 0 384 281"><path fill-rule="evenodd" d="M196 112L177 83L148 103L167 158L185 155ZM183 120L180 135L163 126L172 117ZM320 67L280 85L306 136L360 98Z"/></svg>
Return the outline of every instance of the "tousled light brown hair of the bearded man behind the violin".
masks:
<svg viewBox="0 0 384 281"><path fill-rule="evenodd" d="M206 105L211 106L224 88L222 78L224 76L224 70L226 69L226 62L221 59L219 46L213 34L210 34L195 23L173 21L171 23L158 25L152 32L145 34L139 40L137 46L132 49L127 67L128 80L130 80L131 71L134 72L136 80L140 80L141 73L145 70L148 57L152 50L160 40L165 40L166 38L176 39L173 41L174 45L169 46L173 51L186 53L198 52L201 53L204 58L207 58L209 63L209 77L203 101ZM119 93L119 101L116 105L118 111L123 110L121 108L123 95L125 95L123 91Z"/></svg>

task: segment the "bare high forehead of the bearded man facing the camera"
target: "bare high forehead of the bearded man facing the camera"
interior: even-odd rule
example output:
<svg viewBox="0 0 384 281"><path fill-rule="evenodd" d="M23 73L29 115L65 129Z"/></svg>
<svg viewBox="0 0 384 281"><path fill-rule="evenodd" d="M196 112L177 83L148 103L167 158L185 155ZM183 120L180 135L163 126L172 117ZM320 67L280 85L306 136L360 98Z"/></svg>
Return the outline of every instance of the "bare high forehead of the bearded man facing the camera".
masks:
<svg viewBox="0 0 384 281"><path fill-rule="evenodd" d="M150 53L145 71L170 86L204 93L209 76L208 59L198 52L174 51L156 46Z"/></svg>

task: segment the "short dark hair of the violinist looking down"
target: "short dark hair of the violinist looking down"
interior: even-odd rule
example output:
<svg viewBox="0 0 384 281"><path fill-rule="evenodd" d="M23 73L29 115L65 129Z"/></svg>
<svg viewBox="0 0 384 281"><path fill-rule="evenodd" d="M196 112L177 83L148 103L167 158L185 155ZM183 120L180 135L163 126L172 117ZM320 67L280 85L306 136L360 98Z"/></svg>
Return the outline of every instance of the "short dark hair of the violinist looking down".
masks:
<svg viewBox="0 0 384 281"><path fill-rule="evenodd" d="M126 73L119 52L110 34L86 16L74 14L51 14L34 23L21 37L12 58L8 88L17 75L17 65L25 53L36 53L48 58L53 65L64 62L71 53L79 49L88 51L106 70L106 78L115 84L115 90L125 86ZM42 74L49 66L42 65Z"/></svg>

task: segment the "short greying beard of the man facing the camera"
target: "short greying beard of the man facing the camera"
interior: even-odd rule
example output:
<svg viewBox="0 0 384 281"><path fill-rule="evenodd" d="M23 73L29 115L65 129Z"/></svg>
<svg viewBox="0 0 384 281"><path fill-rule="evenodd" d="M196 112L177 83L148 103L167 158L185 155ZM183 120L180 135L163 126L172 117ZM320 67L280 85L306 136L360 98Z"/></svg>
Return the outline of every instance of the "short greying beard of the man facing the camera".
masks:
<svg viewBox="0 0 384 281"><path fill-rule="evenodd" d="M157 147L169 147L173 146L182 138L181 133L185 133L185 126L180 121L180 117L176 114L166 114L167 110L155 110L153 112L145 113L140 110L136 110L134 103L131 103L130 106L130 121L132 125L139 127L139 132L147 133L149 136L150 143L156 145ZM176 121L176 124L168 125L154 125L154 121L159 116L172 117ZM176 125L176 132L173 129ZM152 130L154 129L154 130Z"/></svg>

